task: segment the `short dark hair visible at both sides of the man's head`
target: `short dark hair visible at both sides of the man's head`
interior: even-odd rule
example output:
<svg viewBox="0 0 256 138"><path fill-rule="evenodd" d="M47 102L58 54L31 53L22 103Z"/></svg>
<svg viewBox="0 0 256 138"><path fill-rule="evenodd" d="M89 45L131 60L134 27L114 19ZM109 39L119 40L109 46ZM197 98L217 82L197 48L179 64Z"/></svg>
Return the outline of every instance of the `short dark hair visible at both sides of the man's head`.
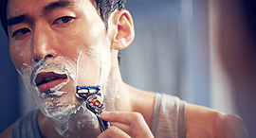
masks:
<svg viewBox="0 0 256 138"><path fill-rule="evenodd" d="M8 0L0 0L0 18L2 26L8 35L7 26L7 5ZM106 29L108 28L108 18L110 14L116 9L125 9L126 0L95 0L97 9L100 12L101 20L104 22Z"/></svg>

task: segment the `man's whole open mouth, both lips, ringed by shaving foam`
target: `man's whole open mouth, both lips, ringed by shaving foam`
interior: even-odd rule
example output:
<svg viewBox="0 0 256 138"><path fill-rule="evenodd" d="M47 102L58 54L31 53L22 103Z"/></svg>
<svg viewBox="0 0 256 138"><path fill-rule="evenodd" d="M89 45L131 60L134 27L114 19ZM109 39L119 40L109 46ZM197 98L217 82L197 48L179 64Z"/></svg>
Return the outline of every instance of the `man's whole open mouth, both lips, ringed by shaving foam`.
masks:
<svg viewBox="0 0 256 138"><path fill-rule="evenodd" d="M67 81L67 76L62 74L56 74L54 72L42 72L35 78L35 84L40 93L52 93L51 88L58 86L59 84Z"/></svg>

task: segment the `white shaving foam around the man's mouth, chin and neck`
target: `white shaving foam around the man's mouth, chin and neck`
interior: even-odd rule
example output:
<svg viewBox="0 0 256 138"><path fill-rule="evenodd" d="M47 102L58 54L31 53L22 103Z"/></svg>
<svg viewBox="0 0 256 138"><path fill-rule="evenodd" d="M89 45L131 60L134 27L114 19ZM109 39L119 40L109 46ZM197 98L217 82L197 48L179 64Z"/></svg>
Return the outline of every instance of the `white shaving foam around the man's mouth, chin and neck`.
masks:
<svg viewBox="0 0 256 138"><path fill-rule="evenodd" d="M41 60L32 66L24 64L22 70L18 71L27 87L28 95L41 112L52 118L55 129L62 136L68 136L73 129L82 129L84 126L91 129L99 128L95 114L88 111L85 102L75 96L79 74L78 62L81 57L82 52L76 62L63 57ZM40 93L34 80L38 74L45 72L65 75L67 80L51 88L50 94Z"/></svg>

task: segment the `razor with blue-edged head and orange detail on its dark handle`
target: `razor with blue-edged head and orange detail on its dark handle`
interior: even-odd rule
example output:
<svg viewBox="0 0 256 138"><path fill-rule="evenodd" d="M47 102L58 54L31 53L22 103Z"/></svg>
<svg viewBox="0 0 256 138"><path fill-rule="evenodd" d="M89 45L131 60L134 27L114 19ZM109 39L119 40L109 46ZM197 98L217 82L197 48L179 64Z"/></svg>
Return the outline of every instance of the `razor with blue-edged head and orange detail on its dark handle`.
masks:
<svg viewBox="0 0 256 138"><path fill-rule="evenodd" d="M110 127L109 122L101 119L101 112L104 104L101 100L100 86L77 86L77 95L82 97L86 103L86 108L95 113L100 124L101 132Z"/></svg>

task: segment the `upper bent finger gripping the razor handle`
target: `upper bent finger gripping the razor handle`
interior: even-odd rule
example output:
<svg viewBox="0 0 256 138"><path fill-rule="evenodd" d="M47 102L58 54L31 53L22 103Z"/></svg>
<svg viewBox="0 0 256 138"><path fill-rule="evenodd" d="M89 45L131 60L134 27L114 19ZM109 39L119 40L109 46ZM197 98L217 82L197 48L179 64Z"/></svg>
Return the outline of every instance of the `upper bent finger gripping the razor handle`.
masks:
<svg viewBox="0 0 256 138"><path fill-rule="evenodd" d="M153 137L144 117L139 112L102 112L101 118L129 126L136 137Z"/></svg>

